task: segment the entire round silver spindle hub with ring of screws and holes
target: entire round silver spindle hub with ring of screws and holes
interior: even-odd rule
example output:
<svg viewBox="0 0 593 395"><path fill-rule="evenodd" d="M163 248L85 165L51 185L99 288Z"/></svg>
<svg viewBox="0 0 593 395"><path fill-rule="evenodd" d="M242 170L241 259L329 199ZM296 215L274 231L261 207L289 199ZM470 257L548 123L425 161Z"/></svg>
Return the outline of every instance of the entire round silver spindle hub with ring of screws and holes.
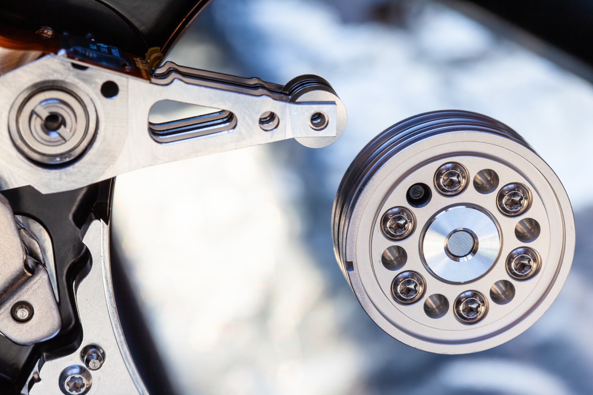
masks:
<svg viewBox="0 0 593 395"><path fill-rule="evenodd" d="M415 220L405 239L385 237L394 207ZM562 288L575 247L554 172L515 131L464 111L417 115L372 140L342 179L333 237L375 323L444 354L492 348L531 326ZM398 300L402 273L423 279L416 303Z"/></svg>

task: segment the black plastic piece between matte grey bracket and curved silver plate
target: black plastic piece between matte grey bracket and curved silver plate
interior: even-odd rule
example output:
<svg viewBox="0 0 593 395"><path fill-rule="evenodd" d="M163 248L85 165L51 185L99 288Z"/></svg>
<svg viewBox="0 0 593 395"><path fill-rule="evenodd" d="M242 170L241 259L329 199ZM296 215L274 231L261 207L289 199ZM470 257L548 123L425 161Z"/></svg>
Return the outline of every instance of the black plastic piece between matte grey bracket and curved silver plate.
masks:
<svg viewBox="0 0 593 395"><path fill-rule="evenodd" d="M113 179L75 191L43 195L32 187L2 191L17 215L31 217L49 233L54 248L62 329L55 338L33 346L18 346L0 336L0 394L20 393L43 352L72 351L81 338L72 284L89 267L90 253L82 243L85 224L93 219L109 222Z"/></svg>

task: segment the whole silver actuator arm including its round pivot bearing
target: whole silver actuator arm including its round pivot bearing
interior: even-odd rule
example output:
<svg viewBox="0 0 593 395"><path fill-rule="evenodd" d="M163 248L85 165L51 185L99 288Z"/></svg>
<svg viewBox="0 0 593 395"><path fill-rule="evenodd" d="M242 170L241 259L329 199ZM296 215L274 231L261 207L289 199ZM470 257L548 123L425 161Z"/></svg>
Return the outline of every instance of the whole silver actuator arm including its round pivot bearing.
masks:
<svg viewBox="0 0 593 395"><path fill-rule="evenodd" d="M323 147L346 126L342 101L316 76L282 86L167 62L146 81L48 55L0 76L0 85L0 124L10 131L0 134L7 147L0 190L74 190L146 166L293 138ZM149 124L152 106L164 100L217 110ZM267 113L275 121L262 128Z"/></svg>

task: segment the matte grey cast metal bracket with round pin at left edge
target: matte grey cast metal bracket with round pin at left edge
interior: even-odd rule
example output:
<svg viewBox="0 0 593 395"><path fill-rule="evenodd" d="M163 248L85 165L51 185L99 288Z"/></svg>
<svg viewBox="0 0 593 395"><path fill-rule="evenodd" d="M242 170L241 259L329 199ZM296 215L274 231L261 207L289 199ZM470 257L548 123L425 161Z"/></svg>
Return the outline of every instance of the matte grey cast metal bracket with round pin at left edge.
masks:
<svg viewBox="0 0 593 395"><path fill-rule="evenodd" d="M50 339L62 319L49 276L25 255L12 208L1 195L0 230L0 333L18 345Z"/></svg>

